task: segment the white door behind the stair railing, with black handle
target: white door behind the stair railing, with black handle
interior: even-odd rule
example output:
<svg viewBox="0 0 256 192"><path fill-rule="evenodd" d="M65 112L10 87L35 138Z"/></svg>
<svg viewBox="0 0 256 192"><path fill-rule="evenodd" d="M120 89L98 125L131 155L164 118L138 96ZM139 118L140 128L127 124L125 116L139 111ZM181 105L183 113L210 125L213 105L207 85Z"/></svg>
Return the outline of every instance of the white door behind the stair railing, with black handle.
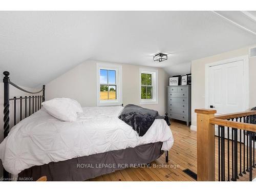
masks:
<svg viewBox="0 0 256 192"><path fill-rule="evenodd" d="M209 106L218 114L242 112L244 108L243 60L210 66L208 78Z"/></svg>

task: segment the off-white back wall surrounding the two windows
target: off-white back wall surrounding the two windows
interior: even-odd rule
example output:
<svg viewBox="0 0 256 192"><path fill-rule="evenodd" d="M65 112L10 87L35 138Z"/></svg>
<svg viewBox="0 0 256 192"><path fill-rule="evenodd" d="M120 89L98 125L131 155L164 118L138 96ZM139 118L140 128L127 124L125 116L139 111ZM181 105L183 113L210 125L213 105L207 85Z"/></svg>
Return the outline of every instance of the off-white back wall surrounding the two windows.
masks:
<svg viewBox="0 0 256 192"><path fill-rule="evenodd" d="M96 106L96 63L97 61L86 61L46 84L46 100L55 97L69 97L76 99L82 106ZM122 65L123 104L132 103L139 105L139 68L146 67L120 65ZM161 68L154 69L158 69L158 104L145 104L141 106L157 110L159 114L163 115L167 108L166 86L168 75Z"/></svg>

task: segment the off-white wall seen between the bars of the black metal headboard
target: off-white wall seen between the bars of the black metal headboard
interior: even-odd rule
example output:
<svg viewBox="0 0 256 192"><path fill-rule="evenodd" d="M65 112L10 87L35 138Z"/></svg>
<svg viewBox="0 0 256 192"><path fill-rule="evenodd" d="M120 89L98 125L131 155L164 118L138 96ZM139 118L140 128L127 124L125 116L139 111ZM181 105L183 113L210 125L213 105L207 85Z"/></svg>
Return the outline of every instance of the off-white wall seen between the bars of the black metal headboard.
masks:
<svg viewBox="0 0 256 192"><path fill-rule="evenodd" d="M10 77L11 77L11 75L10 75ZM31 89L31 88L26 88L26 87L21 87L21 88L28 90L28 91L35 91L34 89ZM1 143L4 139L4 83L3 82L0 82L0 90L1 90L1 93L0 93L0 111L1 111L1 113L0 113L0 143ZM14 96L19 97L19 96L31 95L31 94L26 94L22 91L19 91L18 89L14 88L11 85L10 85L10 93L9 94L10 94L10 98L12 98ZM20 109L19 109L19 101L18 100L16 101L16 106L17 106L17 108L16 108L17 120L19 120L18 112ZM23 106L25 106L24 103L23 103ZM10 108L9 108L9 110L10 110L10 115L9 115L10 116L10 127L13 126L13 119L14 119L13 118L13 116L14 116L13 108L14 108L13 101L10 101ZM23 108L23 117L25 116L24 111L25 111L25 108ZM2 174L3 174L3 166L2 166L2 162L0 160L0 177L3 176Z"/></svg>

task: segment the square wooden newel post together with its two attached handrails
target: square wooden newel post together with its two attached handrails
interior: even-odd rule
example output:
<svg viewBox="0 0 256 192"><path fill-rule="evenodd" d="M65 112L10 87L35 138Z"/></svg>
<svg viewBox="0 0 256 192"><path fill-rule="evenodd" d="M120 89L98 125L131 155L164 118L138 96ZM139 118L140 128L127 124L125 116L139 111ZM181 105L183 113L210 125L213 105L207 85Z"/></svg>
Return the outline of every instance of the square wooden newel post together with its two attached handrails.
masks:
<svg viewBox="0 0 256 192"><path fill-rule="evenodd" d="M227 119L256 115L256 111L215 116L216 110L196 109L197 113L197 178L215 181L215 125L256 132L256 124Z"/></svg>

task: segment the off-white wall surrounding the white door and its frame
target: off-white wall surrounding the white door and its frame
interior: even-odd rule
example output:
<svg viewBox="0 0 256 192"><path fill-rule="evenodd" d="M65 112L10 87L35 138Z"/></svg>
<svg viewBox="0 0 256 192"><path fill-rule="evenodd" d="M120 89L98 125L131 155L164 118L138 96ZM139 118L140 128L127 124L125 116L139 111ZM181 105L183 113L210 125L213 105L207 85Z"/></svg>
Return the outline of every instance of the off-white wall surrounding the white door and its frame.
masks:
<svg viewBox="0 0 256 192"><path fill-rule="evenodd" d="M195 128L197 125L195 109L205 108L205 64L243 55L249 55L250 47L254 46L193 60L191 62L191 128ZM249 58L249 108L256 106L255 74L256 57L252 57Z"/></svg>

